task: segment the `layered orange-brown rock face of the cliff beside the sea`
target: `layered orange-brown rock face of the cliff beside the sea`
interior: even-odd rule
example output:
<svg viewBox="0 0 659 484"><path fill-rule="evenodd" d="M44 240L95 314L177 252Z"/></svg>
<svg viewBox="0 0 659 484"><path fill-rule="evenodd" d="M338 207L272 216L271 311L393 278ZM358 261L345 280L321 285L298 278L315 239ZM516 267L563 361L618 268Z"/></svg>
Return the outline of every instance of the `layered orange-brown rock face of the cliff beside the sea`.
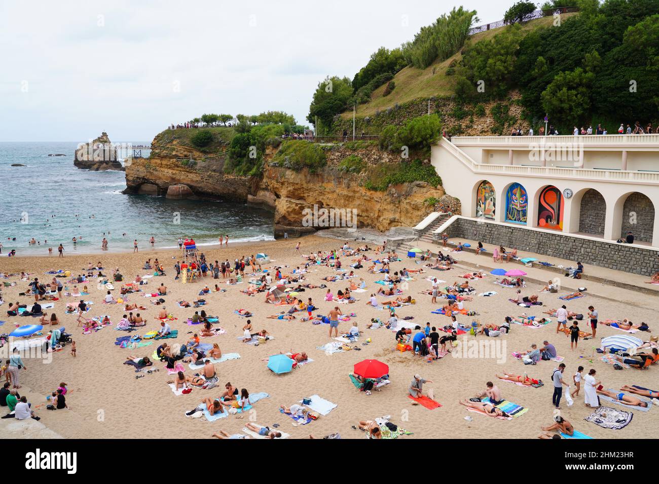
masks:
<svg viewBox="0 0 659 484"><path fill-rule="evenodd" d="M229 198L262 205L274 212L275 236L314 232L329 227L322 221L322 209L340 212L336 225L370 227L414 226L433 210L433 201L444 197L442 186L425 181L401 182L386 190L365 188L374 174L393 169L401 163L392 153L377 146L324 146L325 165L316 170L289 169L273 162L279 148L268 148L262 176L237 176L224 173L227 151L219 148L205 153L185 146L179 140L154 140L152 156L132 159L126 167L126 193L165 195L169 188L179 198L194 196ZM206 150L208 151L208 150ZM347 158L359 159L360 166L347 170ZM313 218L314 205L319 218ZM306 210L306 212L305 212ZM350 219L345 219L345 213ZM305 213L311 214L306 217Z"/></svg>

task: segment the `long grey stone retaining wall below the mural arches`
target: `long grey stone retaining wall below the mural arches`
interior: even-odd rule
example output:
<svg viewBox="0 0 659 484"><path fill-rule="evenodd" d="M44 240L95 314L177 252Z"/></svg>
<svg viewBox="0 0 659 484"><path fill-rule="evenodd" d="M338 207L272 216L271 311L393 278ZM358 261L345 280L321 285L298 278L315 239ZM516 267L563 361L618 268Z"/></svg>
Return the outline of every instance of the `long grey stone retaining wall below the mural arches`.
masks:
<svg viewBox="0 0 659 484"><path fill-rule="evenodd" d="M445 232L449 237L464 237L484 244L560 257L575 261L574 265L579 260L585 265L585 273L588 273L588 264L646 276L659 271L659 251L656 249L461 217L455 219Z"/></svg>

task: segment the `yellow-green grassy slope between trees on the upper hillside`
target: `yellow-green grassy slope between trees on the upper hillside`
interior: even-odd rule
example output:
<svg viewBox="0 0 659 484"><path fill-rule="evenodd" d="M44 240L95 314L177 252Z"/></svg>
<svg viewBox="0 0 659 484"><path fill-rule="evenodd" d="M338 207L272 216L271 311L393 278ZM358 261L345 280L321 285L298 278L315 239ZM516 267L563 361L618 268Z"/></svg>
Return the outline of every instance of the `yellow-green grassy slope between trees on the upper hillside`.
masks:
<svg viewBox="0 0 659 484"><path fill-rule="evenodd" d="M563 14L563 18L575 14ZM537 18L525 22L523 30L534 30L541 26L550 26L554 22L552 16ZM469 42L478 42L480 40L488 40L501 32L501 28L487 30L486 32L479 32L471 38ZM393 80L395 82L395 89L391 94L384 96L386 84L374 90L371 95L371 100L366 104L357 105L357 116L365 117L372 116L376 111L384 111L388 107L393 107L396 104L403 104L413 99L433 97L433 96L446 96L453 94L453 82L455 76L447 75L446 71L449 65L455 61L456 63L462 59L462 54L456 53L449 59L439 62L436 61L428 68L418 69L416 67L405 67L398 72ZM341 114L343 118L351 118L353 111L345 111Z"/></svg>

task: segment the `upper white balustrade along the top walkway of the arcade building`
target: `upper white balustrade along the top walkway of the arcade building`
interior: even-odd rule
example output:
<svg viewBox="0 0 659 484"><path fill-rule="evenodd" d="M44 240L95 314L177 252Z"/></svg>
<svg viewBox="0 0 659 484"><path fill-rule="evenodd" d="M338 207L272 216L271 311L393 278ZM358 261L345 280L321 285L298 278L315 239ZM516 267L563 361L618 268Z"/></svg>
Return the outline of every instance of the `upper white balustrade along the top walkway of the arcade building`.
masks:
<svg viewBox="0 0 659 484"><path fill-rule="evenodd" d="M453 136L455 145L492 146L492 145L537 145L544 140L550 144L574 144L583 146L621 146L641 145L659 148L659 134L590 134L585 136Z"/></svg>

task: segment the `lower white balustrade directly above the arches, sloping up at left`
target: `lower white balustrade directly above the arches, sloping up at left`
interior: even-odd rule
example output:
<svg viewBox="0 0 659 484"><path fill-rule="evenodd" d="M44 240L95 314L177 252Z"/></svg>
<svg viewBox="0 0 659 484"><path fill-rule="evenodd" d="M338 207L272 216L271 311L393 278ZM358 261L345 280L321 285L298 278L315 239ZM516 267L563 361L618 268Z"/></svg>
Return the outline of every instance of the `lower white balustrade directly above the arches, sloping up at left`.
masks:
<svg viewBox="0 0 659 484"><path fill-rule="evenodd" d="M628 135L631 136L631 135ZM641 135L639 135L641 136ZM654 136L654 135L647 135ZM495 137L497 138L497 137ZM516 138L513 136L512 138ZM455 140L455 138L453 138ZM604 182L631 182L644 184L659 184L659 173L646 171L622 170L595 170L588 168L558 168L558 167L531 167L523 165L490 165L476 163L467 153L457 148L455 144L445 138L440 140L440 147L446 149L459 161L467 165L474 173L540 176L550 178L588 178Z"/></svg>

